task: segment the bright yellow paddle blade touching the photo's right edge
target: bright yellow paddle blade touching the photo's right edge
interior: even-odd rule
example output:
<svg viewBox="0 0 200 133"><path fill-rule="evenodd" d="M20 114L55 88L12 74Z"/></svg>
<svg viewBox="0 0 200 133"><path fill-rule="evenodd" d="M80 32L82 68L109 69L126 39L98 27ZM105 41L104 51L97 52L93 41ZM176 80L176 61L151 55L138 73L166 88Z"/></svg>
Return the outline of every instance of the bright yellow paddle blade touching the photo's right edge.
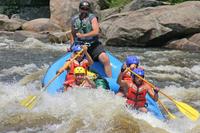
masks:
<svg viewBox="0 0 200 133"><path fill-rule="evenodd" d="M183 102L178 102L175 100L174 102L176 103L178 109L189 119L191 119L192 121L196 121L199 119L200 114L196 109Z"/></svg>

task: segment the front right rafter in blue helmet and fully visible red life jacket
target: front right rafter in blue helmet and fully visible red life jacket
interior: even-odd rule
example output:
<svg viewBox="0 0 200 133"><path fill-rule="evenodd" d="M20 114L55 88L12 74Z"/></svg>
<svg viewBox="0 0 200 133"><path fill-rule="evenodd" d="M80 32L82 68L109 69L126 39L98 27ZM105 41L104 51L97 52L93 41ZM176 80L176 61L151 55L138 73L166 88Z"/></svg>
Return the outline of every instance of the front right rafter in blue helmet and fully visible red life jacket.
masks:
<svg viewBox="0 0 200 133"><path fill-rule="evenodd" d="M144 78L144 70L141 68L136 68L133 70L134 73ZM146 94L149 93L150 96L157 101L158 100L158 88L151 88L147 83L145 83L139 77L132 75L133 82L127 83L125 80L122 79L123 73L119 75L119 82L122 87L127 88L128 92L126 94L127 104L130 105L132 108L137 109L141 112L147 112L147 104L146 104Z"/></svg>

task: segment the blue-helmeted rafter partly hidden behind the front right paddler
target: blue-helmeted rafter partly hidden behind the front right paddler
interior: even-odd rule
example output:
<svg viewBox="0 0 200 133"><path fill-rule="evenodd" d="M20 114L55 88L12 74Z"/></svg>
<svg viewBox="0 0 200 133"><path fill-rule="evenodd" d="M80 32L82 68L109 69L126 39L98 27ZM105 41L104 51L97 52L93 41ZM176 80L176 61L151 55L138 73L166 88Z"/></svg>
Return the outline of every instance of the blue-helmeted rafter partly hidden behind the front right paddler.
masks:
<svg viewBox="0 0 200 133"><path fill-rule="evenodd" d="M138 68L139 62L140 62L140 60L137 56L133 56L133 55L127 56L125 62L122 65L121 73L123 73L127 69L127 67L130 68L131 70ZM130 83L130 82L132 82L131 75L132 75L131 72L126 71L126 73L123 74L122 79L124 81L126 81L127 83ZM119 79L119 76L118 76L118 79ZM119 88L119 92L116 95L125 96L125 94L127 93L127 89L123 88L120 85L119 80L117 80L117 83L119 84L120 88Z"/></svg>

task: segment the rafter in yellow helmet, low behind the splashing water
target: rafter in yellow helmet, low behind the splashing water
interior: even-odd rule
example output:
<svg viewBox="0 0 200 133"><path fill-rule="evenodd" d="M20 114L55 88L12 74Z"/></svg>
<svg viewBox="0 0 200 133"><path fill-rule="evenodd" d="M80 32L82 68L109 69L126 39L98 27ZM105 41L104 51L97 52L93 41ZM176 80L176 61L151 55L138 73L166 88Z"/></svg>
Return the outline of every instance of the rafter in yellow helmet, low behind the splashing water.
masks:
<svg viewBox="0 0 200 133"><path fill-rule="evenodd" d="M65 81L64 90L68 91L78 87L96 88L94 81L87 77L86 71L83 67L76 67L74 69L74 80Z"/></svg>

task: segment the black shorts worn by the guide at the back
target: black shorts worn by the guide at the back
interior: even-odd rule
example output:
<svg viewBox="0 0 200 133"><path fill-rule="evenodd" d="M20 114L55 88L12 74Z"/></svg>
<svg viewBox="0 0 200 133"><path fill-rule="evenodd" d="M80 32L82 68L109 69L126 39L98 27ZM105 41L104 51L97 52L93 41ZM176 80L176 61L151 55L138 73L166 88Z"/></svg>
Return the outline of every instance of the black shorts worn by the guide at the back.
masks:
<svg viewBox="0 0 200 133"><path fill-rule="evenodd" d="M105 52L105 50L101 42L92 43L88 48L88 53L92 57L93 61L98 61L98 57L102 52Z"/></svg>

